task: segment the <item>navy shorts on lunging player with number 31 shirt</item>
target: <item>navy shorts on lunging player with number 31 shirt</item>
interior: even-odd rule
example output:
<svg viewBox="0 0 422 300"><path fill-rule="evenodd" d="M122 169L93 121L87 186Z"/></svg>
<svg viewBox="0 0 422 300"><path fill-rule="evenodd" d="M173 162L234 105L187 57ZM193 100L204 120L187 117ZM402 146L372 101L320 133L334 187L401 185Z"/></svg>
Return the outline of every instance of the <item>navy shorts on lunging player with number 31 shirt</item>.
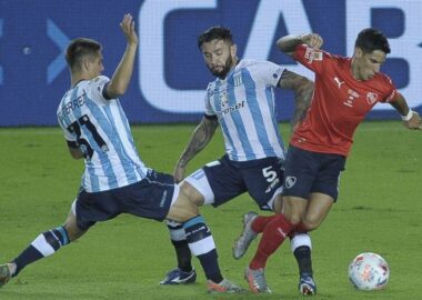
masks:
<svg viewBox="0 0 422 300"><path fill-rule="evenodd" d="M101 192L82 189L74 208L78 227L87 230L120 213L162 221L169 212L174 188L172 176L150 170L144 179L127 187Z"/></svg>

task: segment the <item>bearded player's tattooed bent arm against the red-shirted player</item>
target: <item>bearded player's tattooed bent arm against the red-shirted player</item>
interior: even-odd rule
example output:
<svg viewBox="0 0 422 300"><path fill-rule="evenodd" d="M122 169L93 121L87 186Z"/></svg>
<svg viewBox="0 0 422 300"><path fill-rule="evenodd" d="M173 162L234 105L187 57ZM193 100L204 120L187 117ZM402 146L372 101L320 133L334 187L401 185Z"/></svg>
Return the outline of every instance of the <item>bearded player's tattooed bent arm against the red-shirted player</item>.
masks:
<svg viewBox="0 0 422 300"><path fill-rule="evenodd" d="M290 121L292 131L294 131L307 116L308 109L311 106L313 86L313 81L292 71L284 70L281 74L279 87L293 90L294 92L294 111Z"/></svg>

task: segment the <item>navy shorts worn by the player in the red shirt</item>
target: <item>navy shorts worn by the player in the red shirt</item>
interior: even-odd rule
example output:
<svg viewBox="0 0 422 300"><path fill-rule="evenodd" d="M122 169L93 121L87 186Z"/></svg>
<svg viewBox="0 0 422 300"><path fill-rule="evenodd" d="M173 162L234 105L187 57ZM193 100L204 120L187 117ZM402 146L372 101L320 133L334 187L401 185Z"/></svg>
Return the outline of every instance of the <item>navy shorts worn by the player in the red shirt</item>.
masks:
<svg viewBox="0 0 422 300"><path fill-rule="evenodd" d="M289 147L284 170L284 196L309 199L310 193L328 194L336 201L345 157Z"/></svg>

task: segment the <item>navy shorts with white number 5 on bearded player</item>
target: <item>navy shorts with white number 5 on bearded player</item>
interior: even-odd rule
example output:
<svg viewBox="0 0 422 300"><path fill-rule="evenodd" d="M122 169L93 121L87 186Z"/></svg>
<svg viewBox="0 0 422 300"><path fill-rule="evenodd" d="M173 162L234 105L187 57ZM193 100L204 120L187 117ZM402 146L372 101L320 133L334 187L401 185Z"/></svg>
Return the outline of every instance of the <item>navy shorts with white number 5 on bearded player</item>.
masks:
<svg viewBox="0 0 422 300"><path fill-rule="evenodd" d="M283 160L277 157L232 161L224 156L218 163L209 163L203 172L214 196L212 206L221 206L248 191L260 209L272 210L268 203L275 192L281 193L282 167Z"/></svg>

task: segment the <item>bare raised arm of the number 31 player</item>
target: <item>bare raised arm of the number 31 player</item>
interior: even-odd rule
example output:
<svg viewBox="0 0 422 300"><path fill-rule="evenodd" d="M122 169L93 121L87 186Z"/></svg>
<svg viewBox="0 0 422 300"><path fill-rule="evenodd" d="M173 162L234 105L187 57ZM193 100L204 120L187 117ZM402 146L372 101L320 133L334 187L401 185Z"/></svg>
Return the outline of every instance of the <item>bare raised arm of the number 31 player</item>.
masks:
<svg viewBox="0 0 422 300"><path fill-rule="evenodd" d="M134 58L137 54L138 36L134 30L133 18L130 13L124 14L123 20L120 23L120 29L122 30L128 44L120 63L107 87L107 94L110 99L118 98L127 91L132 77Z"/></svg>

